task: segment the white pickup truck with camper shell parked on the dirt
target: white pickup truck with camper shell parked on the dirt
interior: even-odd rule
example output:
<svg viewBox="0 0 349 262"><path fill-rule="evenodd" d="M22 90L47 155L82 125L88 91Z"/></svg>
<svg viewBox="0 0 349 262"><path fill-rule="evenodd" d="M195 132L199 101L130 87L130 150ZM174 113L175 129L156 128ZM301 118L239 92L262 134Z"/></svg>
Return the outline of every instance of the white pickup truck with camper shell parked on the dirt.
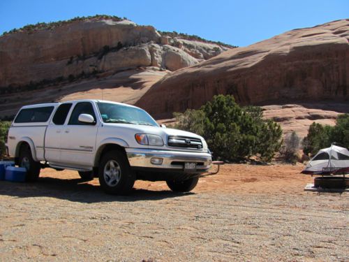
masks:
<svg viewBox="0 0 349 262"><path fill-rule="evenodd" d="M144 110L110 101L80 100L24 106L8 131L8 154L27 168L77 170L99 178L104 191L126 194L135 180L166 181L191 191L211 165L204 138L166 129Z"/></svg>

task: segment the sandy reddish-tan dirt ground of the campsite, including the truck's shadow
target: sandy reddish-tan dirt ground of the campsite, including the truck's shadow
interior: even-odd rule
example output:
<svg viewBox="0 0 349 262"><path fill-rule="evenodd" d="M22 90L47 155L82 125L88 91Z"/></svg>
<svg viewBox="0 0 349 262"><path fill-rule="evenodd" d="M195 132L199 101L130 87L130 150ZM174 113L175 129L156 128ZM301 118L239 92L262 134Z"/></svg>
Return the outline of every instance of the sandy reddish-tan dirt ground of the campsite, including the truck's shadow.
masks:
<svg viewBox="0 0 349 262"><path fill-rule="evenodd" d="M190 194L106 195L42 170L0 181L0 261L349 261L349 195L304 191L303 166L229 164Z"/></svg>

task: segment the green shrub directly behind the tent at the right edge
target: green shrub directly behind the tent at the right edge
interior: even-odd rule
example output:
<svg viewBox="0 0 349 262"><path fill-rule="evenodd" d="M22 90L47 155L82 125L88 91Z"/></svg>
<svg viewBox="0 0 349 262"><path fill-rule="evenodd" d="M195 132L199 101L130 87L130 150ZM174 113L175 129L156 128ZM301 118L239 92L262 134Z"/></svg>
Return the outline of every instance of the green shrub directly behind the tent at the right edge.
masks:
<svg viewBox="0 0 349 262"><path fill-rule="evenodd" d="M315 122L311 124L303 140L303 152L306 155L314 155L332 143L349 147L349 114L339 115L335 126L324 126Z"/></svg>

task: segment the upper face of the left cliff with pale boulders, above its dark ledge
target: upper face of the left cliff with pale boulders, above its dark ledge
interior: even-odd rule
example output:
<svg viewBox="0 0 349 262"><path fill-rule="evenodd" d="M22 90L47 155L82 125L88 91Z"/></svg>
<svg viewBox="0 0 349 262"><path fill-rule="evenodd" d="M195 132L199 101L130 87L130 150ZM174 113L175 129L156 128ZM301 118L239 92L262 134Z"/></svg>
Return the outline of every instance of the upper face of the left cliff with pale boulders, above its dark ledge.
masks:
<svg viewBox="0 0 349 262"><path fill-rule="evenodd" d="M164 43L165 42L165 43ZM129 20L88 19L0 37L0 87L156 66L175 71L228 50L214 43L163 37Z"/></svg>

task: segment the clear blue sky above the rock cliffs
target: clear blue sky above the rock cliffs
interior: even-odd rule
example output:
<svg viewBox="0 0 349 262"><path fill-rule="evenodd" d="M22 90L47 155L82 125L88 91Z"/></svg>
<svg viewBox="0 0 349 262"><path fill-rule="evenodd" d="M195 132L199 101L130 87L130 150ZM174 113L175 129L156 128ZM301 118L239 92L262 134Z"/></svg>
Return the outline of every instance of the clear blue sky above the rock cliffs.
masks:
<svg viewBox="0 0 349 262"><path fill-rule="evenodd" d="M0 34L26 24L95 14L244 46L291 29L349 18L349 0L1 0Z"/></svg>

